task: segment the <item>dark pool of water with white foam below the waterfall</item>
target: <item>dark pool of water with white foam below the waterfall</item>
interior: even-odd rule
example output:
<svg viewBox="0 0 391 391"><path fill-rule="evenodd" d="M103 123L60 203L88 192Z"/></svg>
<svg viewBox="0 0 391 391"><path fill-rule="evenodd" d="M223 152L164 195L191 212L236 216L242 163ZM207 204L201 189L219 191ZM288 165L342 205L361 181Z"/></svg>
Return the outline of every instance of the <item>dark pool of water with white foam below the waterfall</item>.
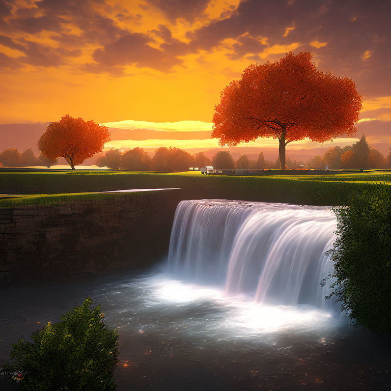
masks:
<svg viewBox="0 0 391 391"><path fill-rule="evenodd" d="M123 390L382 390L390 342L311 306L264 306L154 270L2 293L0 363L10 343L91 295L120 331ZM10 389L0 379L0 389ZM12 388L15 389L15 388Z"/></svg>

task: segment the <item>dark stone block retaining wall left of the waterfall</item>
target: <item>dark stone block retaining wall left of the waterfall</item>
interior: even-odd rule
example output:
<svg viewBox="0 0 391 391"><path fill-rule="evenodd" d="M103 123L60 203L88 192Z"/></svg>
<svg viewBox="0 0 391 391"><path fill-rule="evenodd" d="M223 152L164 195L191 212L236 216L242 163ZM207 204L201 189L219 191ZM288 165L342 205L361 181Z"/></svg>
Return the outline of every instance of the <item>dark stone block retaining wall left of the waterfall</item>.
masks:
<svg viewBox="0 0 391 391"><path fill-rule="evenodd" d="M176 206L187 198L179 189L0 208L0 281L151 265L166 256Z"/></svg>

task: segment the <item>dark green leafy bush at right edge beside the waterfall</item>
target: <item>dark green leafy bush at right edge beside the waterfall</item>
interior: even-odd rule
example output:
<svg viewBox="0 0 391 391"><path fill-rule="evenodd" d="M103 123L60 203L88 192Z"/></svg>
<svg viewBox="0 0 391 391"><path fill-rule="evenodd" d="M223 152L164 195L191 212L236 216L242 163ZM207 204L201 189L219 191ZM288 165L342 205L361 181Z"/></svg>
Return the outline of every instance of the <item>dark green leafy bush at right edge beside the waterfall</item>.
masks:
<svg viewBox="0 0 391 391"><path fill-rule="evenodd" d="M334 212L338 236L328 254L337 280L329 297L342 302L354 326L391 333L391 187L367 188Z"/></svg>

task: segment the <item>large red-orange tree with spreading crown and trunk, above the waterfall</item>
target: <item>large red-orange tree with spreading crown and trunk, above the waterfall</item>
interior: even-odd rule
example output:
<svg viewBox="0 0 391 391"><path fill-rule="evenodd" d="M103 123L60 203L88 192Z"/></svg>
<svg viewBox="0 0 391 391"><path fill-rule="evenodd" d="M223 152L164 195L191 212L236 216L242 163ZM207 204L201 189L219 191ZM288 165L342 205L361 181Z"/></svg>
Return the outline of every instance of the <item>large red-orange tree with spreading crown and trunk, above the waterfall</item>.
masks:
<svg viewBox="0 0 391 391"><path fill-rule="evenodd" d="M323 143L355 133L361 98L353 80L318 71L311 53L289 52L274 63L248 66L221 92L211 136L230 147L277 138L285 169L288 143L306 137Z"/></svg>

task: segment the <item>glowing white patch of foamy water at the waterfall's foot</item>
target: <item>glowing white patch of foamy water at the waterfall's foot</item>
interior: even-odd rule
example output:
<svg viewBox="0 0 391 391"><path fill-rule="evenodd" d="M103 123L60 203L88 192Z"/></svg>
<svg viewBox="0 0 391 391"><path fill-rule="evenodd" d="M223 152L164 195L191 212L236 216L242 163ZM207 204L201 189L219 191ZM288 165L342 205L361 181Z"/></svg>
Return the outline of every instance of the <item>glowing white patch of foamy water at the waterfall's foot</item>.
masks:
<svg viewBox="0 0 391 391"><path fill-rule="evenodd" d="M225 338L234 336L234 331L244 336L246 333L270 333L288 328L321 329L340 322L337 317L332 318L330 313L314 306L266 305L244 295L230 297L223 291L171 280L164 275L151 277L147 284L151 287L150 300L155 305L171 302L186 307L208 303L210 309L219 309L208 318L208 330L215 329ZM193 329L200 326L194 319L190 324Z"/></svg>

